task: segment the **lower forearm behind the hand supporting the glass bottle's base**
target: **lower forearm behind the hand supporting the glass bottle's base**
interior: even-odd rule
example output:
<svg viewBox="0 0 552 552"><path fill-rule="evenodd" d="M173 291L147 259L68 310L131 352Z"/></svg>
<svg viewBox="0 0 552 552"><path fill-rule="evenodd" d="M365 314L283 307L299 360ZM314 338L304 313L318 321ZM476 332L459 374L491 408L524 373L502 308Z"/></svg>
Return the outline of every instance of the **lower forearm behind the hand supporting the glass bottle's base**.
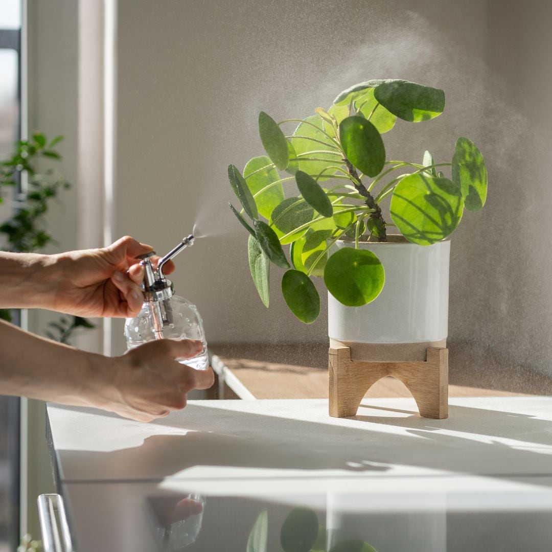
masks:
<svg viewBox="0 0 552 552"><path fill-rule="evenodd" d="M0 321L0 394L102 406L110 389L108 357L86 353Z"/></svg>

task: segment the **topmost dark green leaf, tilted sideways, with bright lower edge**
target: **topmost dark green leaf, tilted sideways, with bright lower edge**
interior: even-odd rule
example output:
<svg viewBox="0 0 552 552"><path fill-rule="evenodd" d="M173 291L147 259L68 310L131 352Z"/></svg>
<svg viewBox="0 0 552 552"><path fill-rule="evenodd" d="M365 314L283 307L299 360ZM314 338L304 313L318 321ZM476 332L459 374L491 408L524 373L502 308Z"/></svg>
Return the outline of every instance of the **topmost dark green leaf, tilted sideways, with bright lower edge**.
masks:
<svg viewBox="0 0 552 552"><path fill-rule="evenodd" d="M433 119L445 108L442 90L410 81L385 81L375 88L374 97L392 114L413 123Z"/></svg>

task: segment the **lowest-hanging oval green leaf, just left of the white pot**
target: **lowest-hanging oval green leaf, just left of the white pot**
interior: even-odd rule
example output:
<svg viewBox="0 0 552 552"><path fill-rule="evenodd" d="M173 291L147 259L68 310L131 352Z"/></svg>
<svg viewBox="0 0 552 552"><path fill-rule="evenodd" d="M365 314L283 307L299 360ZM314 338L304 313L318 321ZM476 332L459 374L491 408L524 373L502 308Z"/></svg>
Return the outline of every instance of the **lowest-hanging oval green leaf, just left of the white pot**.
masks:
<svg viewBox="0 0 552 552"><path fill-rule="evenodd" d="M284 273L282 295L289 310L301 322L312 324L318 318L320 314L320 296L312 280L304 272L290 269ZM307 550L310 550L310 546Z"/></svg>

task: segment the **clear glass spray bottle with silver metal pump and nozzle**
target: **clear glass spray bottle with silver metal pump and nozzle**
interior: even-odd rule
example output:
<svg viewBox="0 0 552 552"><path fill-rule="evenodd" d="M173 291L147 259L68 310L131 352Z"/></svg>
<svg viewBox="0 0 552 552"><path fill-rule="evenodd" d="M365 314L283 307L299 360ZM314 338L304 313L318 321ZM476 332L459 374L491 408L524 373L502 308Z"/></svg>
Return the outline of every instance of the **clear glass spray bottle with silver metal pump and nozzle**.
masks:
<svg viewBox="0 0 552 552"><path fill-rule="evenodd" d="M144 291L144 305L138 316L126 319L125 338L129 349L155 339L198 339L203 343L203 351L194 358L179 362L197 370L205 370L209 365L209 357L203 321L198 309L183 297L174 295L171 280L163 274L164 264L193 243L192 234L185 237L160 259L157 268L153 268L151 263L155 251L137 257L145 270L141 286Z"/></svg>

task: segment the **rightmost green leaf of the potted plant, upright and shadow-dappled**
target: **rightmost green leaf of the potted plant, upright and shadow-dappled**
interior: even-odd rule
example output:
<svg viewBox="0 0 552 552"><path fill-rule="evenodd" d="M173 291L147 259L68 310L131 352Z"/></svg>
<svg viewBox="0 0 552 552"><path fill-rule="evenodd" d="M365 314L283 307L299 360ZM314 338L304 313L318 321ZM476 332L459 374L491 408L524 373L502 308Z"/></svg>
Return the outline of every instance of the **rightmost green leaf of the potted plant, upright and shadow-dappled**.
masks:
<svg viewBox="0 0 552 552"><path fill-rule="evenodd" d="M469 211L479 211L487 200L487 168L479 148L468 138L456 142L452 160L452 179L464 197Z"/></svg>

